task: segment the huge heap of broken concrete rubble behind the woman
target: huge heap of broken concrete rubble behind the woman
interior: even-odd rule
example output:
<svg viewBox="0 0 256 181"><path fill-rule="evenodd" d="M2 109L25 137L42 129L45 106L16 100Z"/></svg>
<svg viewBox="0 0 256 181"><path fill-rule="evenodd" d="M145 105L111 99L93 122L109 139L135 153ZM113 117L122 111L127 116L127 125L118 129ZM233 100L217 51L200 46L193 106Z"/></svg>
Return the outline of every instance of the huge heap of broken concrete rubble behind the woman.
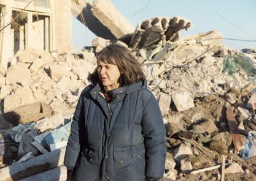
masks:
<svg viewBox="0 0 256 181"><path fill-rule="evenodd" d="M33 180L58 167L64 174L72 113L96 68L95 53L115 42L144 65L160 105L166 179L255 180L256 50L232 50L215 30L179 39L191 26L181 17L157 17L117 40L97 37L77 54L18 51L0 70L0 178Z"/></svg>

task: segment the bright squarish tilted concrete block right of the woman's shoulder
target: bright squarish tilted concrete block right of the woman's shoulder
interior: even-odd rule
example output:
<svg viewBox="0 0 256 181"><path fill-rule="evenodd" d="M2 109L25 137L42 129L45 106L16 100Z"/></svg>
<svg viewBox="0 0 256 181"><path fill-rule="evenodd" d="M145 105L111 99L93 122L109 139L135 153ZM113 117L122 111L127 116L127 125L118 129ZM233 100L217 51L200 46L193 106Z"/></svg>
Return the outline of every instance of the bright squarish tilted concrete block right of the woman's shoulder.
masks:
<svg viewBox="0 0 256 181"><path fill-rule="evenodd" d="M181 92L173 95L172 98L177 111L185 111L189 108L195 107L193 99L188 92Z"/></svg>

